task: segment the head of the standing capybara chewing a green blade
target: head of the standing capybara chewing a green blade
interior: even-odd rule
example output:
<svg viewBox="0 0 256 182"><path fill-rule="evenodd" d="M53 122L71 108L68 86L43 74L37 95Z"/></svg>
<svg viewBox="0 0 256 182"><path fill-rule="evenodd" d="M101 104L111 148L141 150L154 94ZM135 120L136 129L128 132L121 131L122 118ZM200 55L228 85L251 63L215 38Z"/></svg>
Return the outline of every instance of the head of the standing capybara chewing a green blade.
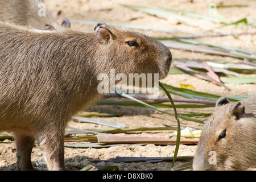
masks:
<svg viewBox="0 0 256 182"><path fill-rule="evenodd" d="M159 73L159 79L167 76L172 55L159 41L134 31L108 26L98 22L96 38L102 52L108 52L109 64L123 73ZM122 67L123 65L123 67ZM126 71L125 71L126 70Z"/></svg>

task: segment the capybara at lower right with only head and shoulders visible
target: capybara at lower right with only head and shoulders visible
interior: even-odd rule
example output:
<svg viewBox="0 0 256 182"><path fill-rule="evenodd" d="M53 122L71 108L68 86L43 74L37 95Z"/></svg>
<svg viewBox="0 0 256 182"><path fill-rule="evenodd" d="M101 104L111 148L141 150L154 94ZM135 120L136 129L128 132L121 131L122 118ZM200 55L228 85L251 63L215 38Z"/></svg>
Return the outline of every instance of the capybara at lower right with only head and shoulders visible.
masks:
<svg viewBox="0 0 256 182"><path fill-rule="evenodd" d="M194 170L246 170L256 164L256 96L221 97L202 130Z"/></svg>

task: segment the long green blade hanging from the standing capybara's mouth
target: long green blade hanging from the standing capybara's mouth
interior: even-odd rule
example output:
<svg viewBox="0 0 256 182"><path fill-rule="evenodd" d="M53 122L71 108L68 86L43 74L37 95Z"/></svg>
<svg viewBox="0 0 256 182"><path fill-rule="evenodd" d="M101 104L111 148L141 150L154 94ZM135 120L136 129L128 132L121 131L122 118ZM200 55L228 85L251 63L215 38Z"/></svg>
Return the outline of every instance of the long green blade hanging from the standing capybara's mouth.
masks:
<svg viewBox="0 0 256 182"><path fill-rule="evenodd" d="M177 110L176 107L174 105L174 101L172 101L172 97L169 94L169 92L166 90L166 88L164 88L164 86L162 85L162 83L159 81L159 86L164 90L164 92L166 93L167 97L169 98L172 106L174 106L174 113L175 113L175 118L177 121L177 138L176 138L176 147L175 147L175 152L174 152L174 159L172 160L172 168L174 167L174 163L175 163L175 159L177 157L177 152L179 151L179 146L180 146L180 119L177 118Z"/></svg>

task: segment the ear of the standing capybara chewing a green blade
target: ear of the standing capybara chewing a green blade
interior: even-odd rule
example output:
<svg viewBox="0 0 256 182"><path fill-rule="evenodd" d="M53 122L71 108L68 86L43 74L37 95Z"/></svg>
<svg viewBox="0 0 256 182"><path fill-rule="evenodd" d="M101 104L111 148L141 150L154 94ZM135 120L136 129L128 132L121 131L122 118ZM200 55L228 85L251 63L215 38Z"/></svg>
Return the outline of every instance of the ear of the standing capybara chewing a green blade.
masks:
<svg viewBox="0 0 256 182"><path fill-rule="evenodd" d="M96 38L99 43L108 44L110 38L113 37L112 32L109 30L108 25L104 22L98 22L94 27L94 31L96 32Z"/></svg>

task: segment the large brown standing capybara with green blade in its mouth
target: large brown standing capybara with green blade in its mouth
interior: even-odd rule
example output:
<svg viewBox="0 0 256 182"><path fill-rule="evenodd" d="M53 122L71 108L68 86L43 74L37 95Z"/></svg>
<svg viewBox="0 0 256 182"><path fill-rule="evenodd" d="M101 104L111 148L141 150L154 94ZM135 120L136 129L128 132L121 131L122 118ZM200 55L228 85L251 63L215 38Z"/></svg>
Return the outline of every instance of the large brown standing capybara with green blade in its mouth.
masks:
<svg viewBox="0 0 256 182"><path fill-rule="evenodd" d="M13 131L18 168L33 169L37 139L49 170L64 169L72 115L101 96L98 75L168 75L171 52L138 32L99 22L94 32L30 30L0 22L0 130Z"/></svg>

